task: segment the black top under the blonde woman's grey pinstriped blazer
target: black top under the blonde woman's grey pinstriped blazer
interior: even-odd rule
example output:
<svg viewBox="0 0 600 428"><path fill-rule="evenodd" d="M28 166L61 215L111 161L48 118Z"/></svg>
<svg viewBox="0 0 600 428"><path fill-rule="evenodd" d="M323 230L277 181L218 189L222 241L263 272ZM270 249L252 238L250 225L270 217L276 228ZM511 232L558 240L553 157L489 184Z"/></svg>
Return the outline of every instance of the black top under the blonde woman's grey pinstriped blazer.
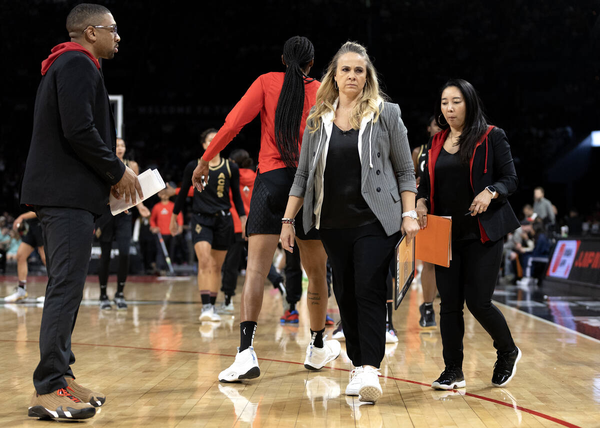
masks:
<svg viewBox="0 0 600 428"><path fill-rule="evenodd" d="M325 173L320 227L346 229L377 221L361 193L361 158L358 130L331 131Z"/></svg>

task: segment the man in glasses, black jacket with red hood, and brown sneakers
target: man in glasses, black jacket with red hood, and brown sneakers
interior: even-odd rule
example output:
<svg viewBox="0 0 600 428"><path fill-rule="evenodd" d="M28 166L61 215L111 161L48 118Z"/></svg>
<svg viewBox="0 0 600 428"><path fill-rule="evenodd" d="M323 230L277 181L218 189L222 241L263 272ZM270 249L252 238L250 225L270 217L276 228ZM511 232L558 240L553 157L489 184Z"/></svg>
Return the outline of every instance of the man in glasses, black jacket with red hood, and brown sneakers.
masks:
<svg viewBox="0 0 600 428"><path fill-rule="evenodd" d="M116 22L100 5L80 4L67 17L71 41L42 62L21 203L44 231L48 284L40 327L40 363L29 416L84 419L105 396L74 381L71 333L83 297L94 220L109 193L136 201L136 174L115 154L115 122L100 58L118 52Z"/></svg>

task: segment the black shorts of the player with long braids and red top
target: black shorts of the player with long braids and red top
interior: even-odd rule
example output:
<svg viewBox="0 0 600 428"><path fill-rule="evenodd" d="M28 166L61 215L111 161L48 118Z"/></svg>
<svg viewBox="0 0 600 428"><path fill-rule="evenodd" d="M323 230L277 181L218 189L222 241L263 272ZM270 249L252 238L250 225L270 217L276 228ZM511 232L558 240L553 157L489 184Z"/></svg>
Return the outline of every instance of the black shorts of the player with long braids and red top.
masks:
<svg viewBox="0 0 600 428"><path fill-rule="evenodd" d="M296 170L278 168L256 174L250 199L250 212L246 222L246 234L281 234L281 218L286 212L287 199L294 182ZM302 226L302 209L296 215L296 237L298 239L320 239L314 227L305 233Z"/></svg>

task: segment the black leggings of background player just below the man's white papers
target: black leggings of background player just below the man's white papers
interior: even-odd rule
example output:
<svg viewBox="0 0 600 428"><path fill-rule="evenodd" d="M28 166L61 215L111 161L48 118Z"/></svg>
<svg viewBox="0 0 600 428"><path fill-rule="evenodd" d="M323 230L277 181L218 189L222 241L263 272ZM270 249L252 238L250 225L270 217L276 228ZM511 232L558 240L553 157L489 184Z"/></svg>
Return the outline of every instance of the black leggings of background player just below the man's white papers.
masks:
<svg viewBox="0 0 600 428"><path fill-rule="evenodd" d="M112 218L104 220L104 216ZM104 221L103 221L104 220ZM104 228L100 228L100 265L98 266L98 281L100 285L106 285L109 279L110 252L113 240L116 240L119 249L118 268L116 274L117 282L127 281L129 270L129 246L131 245L131 216L121 213L116 216L104 214L98 221L103 221ZM98 224L96 225L98 227Z"/></svg>

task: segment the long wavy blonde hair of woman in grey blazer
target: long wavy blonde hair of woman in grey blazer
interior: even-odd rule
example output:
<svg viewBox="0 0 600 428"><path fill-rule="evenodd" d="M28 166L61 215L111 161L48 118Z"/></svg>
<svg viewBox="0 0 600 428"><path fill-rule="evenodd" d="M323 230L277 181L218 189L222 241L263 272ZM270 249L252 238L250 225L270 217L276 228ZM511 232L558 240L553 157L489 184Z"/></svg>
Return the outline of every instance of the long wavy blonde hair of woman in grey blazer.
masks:
<svg viewBox="0 0 600 428"><path fill-rule="evenodd" d="M381 89L379 89L377 71L367 55L367 48L355 41L347 41L340 47L338 52L334 55L334 58L331 59L331 62L329 62L327 72L325 73L325 76L323 76L321 86L319 86L319 89L317 90L316 109L307 118L307 126L308 129L310 129L310 132L315 132L320 128L321 116L323 114L328 111L335 112L333 104L335 103L335 99L340 96L340 92L335 87L334 76L337 72L340 56L346 53L358 53L358 55L364 58L365 63L367 64L367 79L365 80L364 88L362 88L362 96L352 109L350 125L352 125L352 128L354 129L359 129L361 127L362 118L370 113L374 114L373 122L377 122L377 119L379 119L379 113L383 109L383 104L379 107L379 100L386 100L387 97L383 94Z"/></svg>

